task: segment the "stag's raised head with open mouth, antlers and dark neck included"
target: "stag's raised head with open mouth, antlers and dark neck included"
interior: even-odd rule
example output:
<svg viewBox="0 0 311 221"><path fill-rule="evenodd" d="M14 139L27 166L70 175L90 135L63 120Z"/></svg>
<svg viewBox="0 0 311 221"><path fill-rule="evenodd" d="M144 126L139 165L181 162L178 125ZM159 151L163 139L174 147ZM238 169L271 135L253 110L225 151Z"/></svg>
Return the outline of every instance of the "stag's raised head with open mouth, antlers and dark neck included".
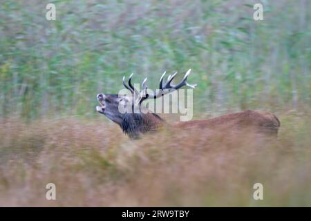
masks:
<svg viewBox="0 0 311 221"><path fill-rule="evenodd" d="M123 77L123 85L131 92L131 96L100 93L97 95L100 106L96 106L96 111L106 115L106 117L118 124L124 133L127 133L130 137L138 137L140 133L155 131L158 126L162 125L163 120L145 108L142 102L146 99L157 99L171 93L173 90L178 90L182 86L195 88L196 84L187 82L190 72L191 69L187 71L182 81L175 86L171 85L171 82L176 77L177 72L169 75L165 83L164 76L166 73L164 72L160 78L160 86L156 93L149 93L147 90L147 78L142 81L141 90L139 91L134 88L131 82L133 74L129 77L128 84L126 84L125 77Z"/></svg>

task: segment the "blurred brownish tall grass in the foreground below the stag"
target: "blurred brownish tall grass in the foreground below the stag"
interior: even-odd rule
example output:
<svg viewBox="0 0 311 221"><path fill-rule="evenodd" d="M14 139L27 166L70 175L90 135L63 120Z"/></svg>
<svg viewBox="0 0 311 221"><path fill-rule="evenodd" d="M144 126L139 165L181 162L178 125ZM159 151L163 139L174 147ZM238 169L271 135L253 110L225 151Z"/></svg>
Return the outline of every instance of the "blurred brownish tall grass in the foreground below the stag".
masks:
<svg viewBox="0 0 311 221"><path fill-rule="evenodd" d="M129 140L96 120L7 119L0 206L311 206L311 115L280 119L267 141L171 128ZM46 200L50 182L57 200Z"/></svg>

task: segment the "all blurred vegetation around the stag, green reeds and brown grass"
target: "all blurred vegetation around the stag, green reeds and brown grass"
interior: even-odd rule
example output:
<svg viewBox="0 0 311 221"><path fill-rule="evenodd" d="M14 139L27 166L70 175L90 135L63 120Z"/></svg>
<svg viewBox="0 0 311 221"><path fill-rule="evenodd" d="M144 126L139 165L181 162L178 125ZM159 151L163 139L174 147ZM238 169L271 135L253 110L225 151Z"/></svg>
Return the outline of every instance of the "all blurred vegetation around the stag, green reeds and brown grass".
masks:
<svg viewBox="0 0 311 221"><path fill-rule="evenodd" d="M263 21L252 0L104 2L0 0L0 206L311 206L311 1L262 1ZM195 119L272 111L279 138L129 140L95 112L123 75L189 68Z"/></svg>

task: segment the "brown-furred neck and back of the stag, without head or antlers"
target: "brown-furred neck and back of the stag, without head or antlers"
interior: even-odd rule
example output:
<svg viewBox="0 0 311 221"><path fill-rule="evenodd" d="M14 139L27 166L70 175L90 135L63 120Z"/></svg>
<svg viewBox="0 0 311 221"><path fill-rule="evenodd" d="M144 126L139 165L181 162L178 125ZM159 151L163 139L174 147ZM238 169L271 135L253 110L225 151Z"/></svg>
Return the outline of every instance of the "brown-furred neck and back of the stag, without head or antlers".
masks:
<svg viewBox="0 0 311 221"><path fill-rule="evenodd" d="M156 131L158 127L163 126L164 121L156 114L138 114L133 120L133 115L128 118L127 128L122 128L124 133L128 133L130 137L138 137L140 133L148 133ZM267 111L242 111L239 113L231 113L211 119L196 119L189 122L179 122L172 125L181 129L214 129L215 131L236 131L247 129L247 131L255 131L265 135L277 135L280 122L279 119ZM122 127L122 126L121 126Z"/></svg>

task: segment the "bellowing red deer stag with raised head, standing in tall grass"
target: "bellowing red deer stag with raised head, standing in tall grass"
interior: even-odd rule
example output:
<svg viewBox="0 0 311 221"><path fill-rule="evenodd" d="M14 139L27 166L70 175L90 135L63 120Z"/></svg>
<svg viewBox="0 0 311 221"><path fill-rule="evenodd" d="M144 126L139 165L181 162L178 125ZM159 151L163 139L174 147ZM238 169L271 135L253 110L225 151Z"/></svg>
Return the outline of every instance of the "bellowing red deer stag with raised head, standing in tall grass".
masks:
<svg viewBox="0 0 311 221"><path fill-rule="evenodd" d="M176 86L171 85L176 73L169 75L167 81L164 83L164 75L160 78L160 87L157 93L149 94L147 92L147 78L142 82L142 90L140 92L133 87L131 79L133 74L129 77L128 84L125 83L125 77L123 77L123 85L126 89L131 91L132 96L120 96L117 94L100 93L97 95L97 101L100 102L100 106L96 107L98 113L106 115L113 122L118 124L124 133L131 138L137 138L141 133L149 133L156 131L160 126L165 125L164 120L156 113L152 113L149 109L142 105L145 99L157 99L167 93L171 93L173 90L178 90L182 86L189 86L195 88L196 84L189 84L187 78L190 74L190 69L185 74L182 81ZM124 107L138 107L139 111L121 113L119 106ZM258 131L263 132L265 135L277 135L280 126L279 119L272 113L266 111L242 111L239 113L232 113L215 117L211 119L198 119L191 120L189 122L179 122L176 127L178 128L211 128L223 130L234 130L236 128L249 129L256 128Z"/></svg>

